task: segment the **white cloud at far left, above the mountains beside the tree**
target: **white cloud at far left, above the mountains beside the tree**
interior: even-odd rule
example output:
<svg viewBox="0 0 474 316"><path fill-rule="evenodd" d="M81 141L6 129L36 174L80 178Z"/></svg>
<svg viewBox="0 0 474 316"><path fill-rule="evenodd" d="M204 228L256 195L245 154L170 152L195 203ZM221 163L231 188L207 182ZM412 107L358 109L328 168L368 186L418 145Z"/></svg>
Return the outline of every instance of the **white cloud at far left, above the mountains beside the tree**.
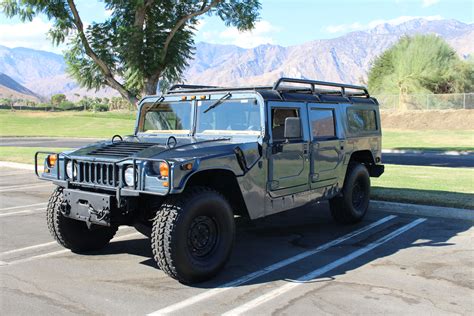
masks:
<svg viewBox="0 0 474 316"><path fill-rule="evenodd" d="M0 45L60 53L64 47L53 46L46 35L50 28L50 22L44 22L38 17L26 23L0 24Z"/></svg>

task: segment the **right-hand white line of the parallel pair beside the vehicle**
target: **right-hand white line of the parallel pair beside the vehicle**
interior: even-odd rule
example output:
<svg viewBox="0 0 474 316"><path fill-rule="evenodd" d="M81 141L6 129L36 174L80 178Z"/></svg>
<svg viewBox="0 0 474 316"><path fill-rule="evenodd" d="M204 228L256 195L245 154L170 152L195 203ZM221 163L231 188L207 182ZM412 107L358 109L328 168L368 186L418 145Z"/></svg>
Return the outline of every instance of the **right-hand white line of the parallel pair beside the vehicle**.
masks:
<svg viewBox="0 0 474 316"><path fill-rule="evenodd" d="M373 250L374 248L392 240L393 238L403 234L404 232L408 231L409 229L412 229L413 227L423 223L424 221L426 221L425 218L419 218L405 226L402 226L401 228L391 232L390 234L388 235L385 235L384 237L368 244L367 246L363 247L363 248L360 248L350 254L348 254L347 256L345 257L342 257L336 261L333 261L319 269L316 269L308 274L305 274L303 275L302 277L298 278L298 282L295 282L295 283L288 283L286 285L283 285L271 292L268 292L267 294L264 294L262 296L259 296L257 297L256 299L250 301L250 302L247 302L243 305L240 305L239 307L237 308L234 308L224 314L222 314L222 316L236 316L236 315L242 315L246 312L248 312L249 310L251 309L254 309L255 307L259 306L259 305L262 305L263 303L266 303L282 294L285 294L286 292L292 290L293 288L297 287L298 285L301 285L301 284L304 284L302 282L308 282L308 281L311 281L313 280L314 278L317 278L343 264L346 264L364 254L366 254L367 252Z"/></svg>

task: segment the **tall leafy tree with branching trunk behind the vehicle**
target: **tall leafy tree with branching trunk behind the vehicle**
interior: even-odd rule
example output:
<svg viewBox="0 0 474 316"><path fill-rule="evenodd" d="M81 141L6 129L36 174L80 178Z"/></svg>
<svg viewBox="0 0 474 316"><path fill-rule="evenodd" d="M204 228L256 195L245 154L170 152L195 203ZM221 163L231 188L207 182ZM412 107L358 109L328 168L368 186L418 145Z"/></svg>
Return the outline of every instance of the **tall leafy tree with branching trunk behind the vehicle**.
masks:
<svg viewBox="0 0 474 316"><path fill-rule="evenodd" d="M193 35L203 16L249 30L259 17L259 0L104 0L106 21L85 26L74 0L3 0L3 12L31 21L46 15L54 44L68 43L69 73L88 89L104 85L135 103L155 94L158 82L180 80L193 54Z"/></svg>

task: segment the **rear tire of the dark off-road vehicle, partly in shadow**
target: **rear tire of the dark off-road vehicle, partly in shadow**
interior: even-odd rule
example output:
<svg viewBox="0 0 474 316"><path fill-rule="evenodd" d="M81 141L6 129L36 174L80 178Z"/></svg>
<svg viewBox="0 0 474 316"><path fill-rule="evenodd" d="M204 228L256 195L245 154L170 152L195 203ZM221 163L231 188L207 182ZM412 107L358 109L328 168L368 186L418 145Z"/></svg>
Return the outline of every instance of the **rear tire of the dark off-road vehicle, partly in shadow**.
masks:
<svg viewBox="0 0 474 316"><path fill-rule="evenodd" d="M360 222L367 213L369 201L369 172L364 165L351 163L347 168L341 194L329 200L331 215L338 223L353 224Z"/></svg>

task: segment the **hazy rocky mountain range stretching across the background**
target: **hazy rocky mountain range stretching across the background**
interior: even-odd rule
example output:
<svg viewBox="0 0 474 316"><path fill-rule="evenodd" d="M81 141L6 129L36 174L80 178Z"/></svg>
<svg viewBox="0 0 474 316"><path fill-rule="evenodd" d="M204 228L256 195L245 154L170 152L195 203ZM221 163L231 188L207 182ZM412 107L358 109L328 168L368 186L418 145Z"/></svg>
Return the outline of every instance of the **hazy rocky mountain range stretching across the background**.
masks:
<svg viewBox="0 0 474 316"><path fill-rule="evenodd" d="M360 84L366 81L374 58L401 36L430 33L443 37L461 58L474 55L474 24L420 18L288 47L266 44L245 49L200 42L184 78L186 83L221 86L265 85L282 76ZM51 52L0 45L0 73L35 97L65 93L75 100L84 95L118 95L110 88L99 91L80 88L66 74L63 57ZM18 93L25 94L24 89ZM0 96L4 94L2 91Z"/></svg>

